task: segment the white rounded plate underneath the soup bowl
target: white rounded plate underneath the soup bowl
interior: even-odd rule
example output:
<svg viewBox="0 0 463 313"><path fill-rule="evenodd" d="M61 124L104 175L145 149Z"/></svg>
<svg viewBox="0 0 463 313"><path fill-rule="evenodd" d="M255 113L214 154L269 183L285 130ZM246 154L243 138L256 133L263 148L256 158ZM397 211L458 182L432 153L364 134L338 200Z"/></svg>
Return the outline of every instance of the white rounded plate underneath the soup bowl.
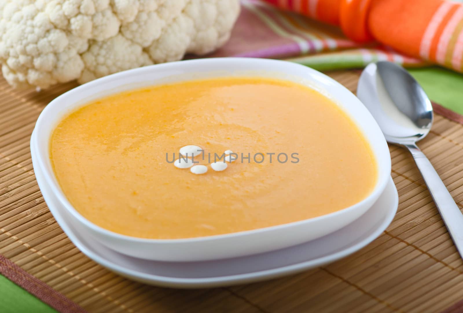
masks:
<svg viewBox="0 0 463 313"><path fill-rule="evenodd" d="M38 170L35 175L41 177L42 173ZM52 193L42 192L47 203L57 201ZM95 241L63 208L55 209L53 216L79 250L119 275L156 286L210 288L294 274L346 257L375 240L388 227L398 203L397 189L390 178L375 204L337 232L285 249L202 262L161 262L129 257Z"/></svg>

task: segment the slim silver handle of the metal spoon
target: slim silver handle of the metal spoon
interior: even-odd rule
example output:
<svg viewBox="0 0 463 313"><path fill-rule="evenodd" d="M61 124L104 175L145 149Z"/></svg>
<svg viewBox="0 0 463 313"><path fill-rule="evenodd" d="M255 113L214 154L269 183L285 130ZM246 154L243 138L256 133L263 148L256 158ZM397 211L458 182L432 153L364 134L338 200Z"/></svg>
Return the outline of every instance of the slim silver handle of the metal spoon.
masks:
<svg viewBox="0 0 463 313"><path fill-rule="evenodd" d="M412 153L450 236L457 246L460 256L463 257L463 214L424 153L415 144L406 144L405 146Z"/></svg>

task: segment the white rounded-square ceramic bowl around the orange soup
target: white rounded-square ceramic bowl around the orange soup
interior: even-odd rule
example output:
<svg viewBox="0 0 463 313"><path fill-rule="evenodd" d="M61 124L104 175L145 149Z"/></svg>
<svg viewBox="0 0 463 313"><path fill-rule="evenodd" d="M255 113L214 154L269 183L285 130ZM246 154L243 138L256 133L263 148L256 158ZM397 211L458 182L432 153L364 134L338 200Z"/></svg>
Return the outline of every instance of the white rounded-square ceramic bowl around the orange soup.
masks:
<svg viewBox="0 0 463 313"><path fill-rule="evenodd" d="M51 166L49 146L52 131L69 111L108 94L148 85L195 78L257 75L287 79L314 88L334 100L356 122L371 145L378 163L378 181L367 198L343 210L289 224L209 237L146 239L121 235L93 224L77 212L63 194ZM37 178L39 187L50 188L62 209L71 214L75 223L83 226L95 240L113 250L159 261L240 257L282 249L325 236L365 213L382 194L391 172L386 140L375 119L354 94L332 78L303 65L256 58L210 58L164 63L109 75L74 88L51 101L40 114L31 137L31 151L37 156L33 161L34 169L39 168L43 173L42 177ZM55 202L47 204L52 213L56 211L53 207Z"/></svg>

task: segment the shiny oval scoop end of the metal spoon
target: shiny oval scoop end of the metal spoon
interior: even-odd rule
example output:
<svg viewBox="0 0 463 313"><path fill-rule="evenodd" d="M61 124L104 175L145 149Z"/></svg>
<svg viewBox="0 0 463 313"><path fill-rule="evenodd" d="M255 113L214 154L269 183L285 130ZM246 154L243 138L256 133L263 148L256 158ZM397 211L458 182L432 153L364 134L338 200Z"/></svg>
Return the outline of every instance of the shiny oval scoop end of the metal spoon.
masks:
<svg viewBox="0 0 463 313"><path fill-rule="evenodd" d="M414 143L431 129L431 101L412 75L395 63L369 64L360 76L357 97L389 143Z"/></svg>

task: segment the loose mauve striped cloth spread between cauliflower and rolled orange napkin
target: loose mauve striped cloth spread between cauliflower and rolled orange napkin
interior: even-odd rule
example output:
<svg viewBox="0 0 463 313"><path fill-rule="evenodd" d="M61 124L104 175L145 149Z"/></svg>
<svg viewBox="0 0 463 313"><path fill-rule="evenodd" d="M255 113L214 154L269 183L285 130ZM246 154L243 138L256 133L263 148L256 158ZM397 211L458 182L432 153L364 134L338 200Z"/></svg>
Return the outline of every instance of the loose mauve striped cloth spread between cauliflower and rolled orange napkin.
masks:
<svg viewBox="0 0 463 313"><path fill-rule="evenodd" d="M406 67L426 64L382 44L358 44L337 26L281 10L264 0L241 0L241 4L232 37L211 56L287 59L319 70L360 68L379 60Z"/></svg>

